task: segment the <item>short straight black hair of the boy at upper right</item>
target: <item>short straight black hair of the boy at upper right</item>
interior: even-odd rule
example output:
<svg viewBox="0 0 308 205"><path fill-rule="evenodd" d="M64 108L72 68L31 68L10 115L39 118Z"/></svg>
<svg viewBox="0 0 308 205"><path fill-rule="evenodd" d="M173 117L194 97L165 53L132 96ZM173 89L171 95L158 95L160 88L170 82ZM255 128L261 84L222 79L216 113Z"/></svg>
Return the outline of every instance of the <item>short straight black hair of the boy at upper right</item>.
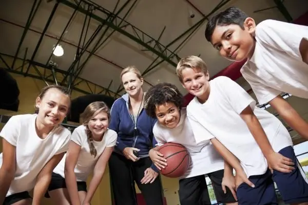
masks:
<svg viewBox="0 0 308 205"><path fill-rule="evenodd" d="M247 14L236 7L227 8L224 11L216 13L212 16L205 28L205 38L208 42L211 42L211 37L217 26L227 26L230 24L239 25L244 29L244 22L247 18Z"/></svg>

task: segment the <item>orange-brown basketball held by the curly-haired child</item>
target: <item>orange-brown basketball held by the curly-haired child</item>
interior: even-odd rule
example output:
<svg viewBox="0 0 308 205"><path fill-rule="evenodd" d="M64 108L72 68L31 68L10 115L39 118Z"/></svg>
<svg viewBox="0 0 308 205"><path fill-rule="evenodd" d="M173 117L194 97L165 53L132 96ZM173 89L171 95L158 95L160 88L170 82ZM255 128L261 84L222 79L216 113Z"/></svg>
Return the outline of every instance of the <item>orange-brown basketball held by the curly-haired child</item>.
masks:
<svg viewBox="0 0 308 205"><path fill-rule="evenodd" d="M183 145L168 142L158 150L167 160L165 169L160 172L164 176L176 178L182 176L189 166L189 153Z"/></svg>

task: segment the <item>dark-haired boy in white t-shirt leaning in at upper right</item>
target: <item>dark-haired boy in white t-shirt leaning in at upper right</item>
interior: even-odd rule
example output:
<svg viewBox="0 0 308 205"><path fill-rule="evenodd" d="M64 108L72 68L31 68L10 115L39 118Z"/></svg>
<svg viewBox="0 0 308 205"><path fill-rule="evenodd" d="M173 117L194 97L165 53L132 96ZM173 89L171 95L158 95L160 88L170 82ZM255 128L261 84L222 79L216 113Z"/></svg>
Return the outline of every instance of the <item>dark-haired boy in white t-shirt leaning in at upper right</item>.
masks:
<svg viewBox="0 0 308 205"><path fill-rule="evenodd" d="M308 139L308 124L280 95L308 98L308 26L255 20L231 7L209 20L206 39L221 56L242 61L243 77L260 105L269 103L282 119Z"/></svg>

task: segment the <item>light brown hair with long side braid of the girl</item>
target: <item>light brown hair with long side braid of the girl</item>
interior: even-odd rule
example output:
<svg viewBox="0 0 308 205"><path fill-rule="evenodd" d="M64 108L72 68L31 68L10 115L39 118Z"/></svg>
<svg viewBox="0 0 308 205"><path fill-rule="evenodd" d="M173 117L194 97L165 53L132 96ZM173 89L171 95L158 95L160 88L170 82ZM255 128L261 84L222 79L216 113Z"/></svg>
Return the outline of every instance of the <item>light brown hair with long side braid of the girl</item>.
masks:
<svg viewBox="0 0 308 205"><path fill-rule="evenodd" d="M84 112L81 114L82 124L86 127L86 133L87 133L87 138L89 142L90 153L94 157L96 157L97 155L97 150L95 149L93 145L92 132L89 129L88 123L95 115L97 115L101 111L107 113L108 121L110 121L110 110L103 101L97 101L97 102L93 102L89 104L84 110Z"/></svg>

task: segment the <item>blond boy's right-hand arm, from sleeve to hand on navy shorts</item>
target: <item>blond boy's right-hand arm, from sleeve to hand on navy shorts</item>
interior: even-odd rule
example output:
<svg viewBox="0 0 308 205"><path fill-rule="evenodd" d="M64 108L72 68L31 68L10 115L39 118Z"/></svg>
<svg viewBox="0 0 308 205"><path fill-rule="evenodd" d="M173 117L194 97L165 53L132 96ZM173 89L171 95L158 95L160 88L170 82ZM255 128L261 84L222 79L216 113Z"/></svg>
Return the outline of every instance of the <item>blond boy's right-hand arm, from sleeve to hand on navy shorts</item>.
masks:
<svg viewBox="0 0 308 205"><path fill-rule="evenodd" d="M255 116L252 108L247 106L241 113L241 118L245 121L249 131L255 138L258 146L260 147L263 155L265 156L268 166L271 169L275 169L279 172L291 172L294 170L294 165L291 159L282 156L281 154L275 152L269 144L268 138L258 120Z"/></svg>

